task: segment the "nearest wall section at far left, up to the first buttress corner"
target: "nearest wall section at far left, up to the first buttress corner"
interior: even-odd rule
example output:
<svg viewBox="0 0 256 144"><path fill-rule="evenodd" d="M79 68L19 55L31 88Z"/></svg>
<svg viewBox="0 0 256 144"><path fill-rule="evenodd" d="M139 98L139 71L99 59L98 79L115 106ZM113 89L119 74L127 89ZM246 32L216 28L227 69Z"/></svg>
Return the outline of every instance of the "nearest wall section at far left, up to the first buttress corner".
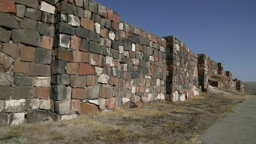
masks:
<svg viewBox="0 0 256 144"><path fill-rule="evenodd" d="M0 1L0 126L50 116L54 12L45 1Z"/></svg>

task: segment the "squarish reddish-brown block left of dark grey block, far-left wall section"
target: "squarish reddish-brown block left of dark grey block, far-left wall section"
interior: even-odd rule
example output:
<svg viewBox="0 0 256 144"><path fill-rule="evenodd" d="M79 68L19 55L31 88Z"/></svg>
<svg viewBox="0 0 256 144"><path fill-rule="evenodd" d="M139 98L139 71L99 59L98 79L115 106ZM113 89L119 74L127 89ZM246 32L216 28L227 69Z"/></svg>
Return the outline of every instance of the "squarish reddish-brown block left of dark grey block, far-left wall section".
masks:
<svg viewBox="0 0 256 144"><path fill-rule="evenodd" d="M26 62L33 62L34 48L30 46L20 46L20 60Z"/></svg>

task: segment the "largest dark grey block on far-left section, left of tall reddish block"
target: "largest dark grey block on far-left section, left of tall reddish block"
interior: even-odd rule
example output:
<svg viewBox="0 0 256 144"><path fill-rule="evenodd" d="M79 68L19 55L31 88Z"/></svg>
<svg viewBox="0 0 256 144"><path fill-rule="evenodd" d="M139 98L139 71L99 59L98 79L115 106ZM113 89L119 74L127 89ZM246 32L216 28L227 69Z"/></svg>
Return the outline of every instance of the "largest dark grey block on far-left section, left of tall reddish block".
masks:
<svg viewBox="0 0 256 144"><path fill-rule="evenodd" d="M21 42L29 46L41 46L41 37L36 30L12 30L12 40L13 42Z"/></svg>

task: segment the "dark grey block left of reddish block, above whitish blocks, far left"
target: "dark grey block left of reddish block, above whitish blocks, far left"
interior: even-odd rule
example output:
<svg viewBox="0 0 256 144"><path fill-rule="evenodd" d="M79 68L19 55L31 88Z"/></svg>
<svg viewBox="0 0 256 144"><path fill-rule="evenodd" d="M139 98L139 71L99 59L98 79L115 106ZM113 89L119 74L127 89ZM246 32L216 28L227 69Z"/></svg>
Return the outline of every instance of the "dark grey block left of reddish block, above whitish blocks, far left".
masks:
<svg viewBox="0 0 256 144"><path fill-rule="evenodd" d="M12 86L12 99L34 98L34 86Z"/></svg>

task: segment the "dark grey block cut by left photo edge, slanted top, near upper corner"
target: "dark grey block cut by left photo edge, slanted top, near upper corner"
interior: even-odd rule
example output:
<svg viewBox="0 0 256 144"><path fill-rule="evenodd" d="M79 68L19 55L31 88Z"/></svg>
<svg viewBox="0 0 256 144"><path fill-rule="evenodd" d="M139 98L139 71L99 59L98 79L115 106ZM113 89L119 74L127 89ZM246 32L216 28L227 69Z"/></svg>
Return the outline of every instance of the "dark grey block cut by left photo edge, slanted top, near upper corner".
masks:
<svg viewBox="0 0 256 144"><path fill-rule="evenodd" d="M19 22L9 13L0 12L0 26L7 28L19 28Z"/></svg>

